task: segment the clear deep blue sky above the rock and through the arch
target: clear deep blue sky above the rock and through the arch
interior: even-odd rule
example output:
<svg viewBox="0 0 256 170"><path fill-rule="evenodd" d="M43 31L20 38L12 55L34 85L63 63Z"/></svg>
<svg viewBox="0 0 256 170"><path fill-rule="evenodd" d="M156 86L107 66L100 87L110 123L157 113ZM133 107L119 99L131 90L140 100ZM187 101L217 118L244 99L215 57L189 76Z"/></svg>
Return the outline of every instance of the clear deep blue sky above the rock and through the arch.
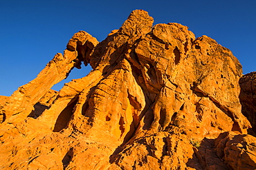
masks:
<svg viewBox="0 0 256 170"><path fill-rule="evenodd" d="M136 9L147 10L154 24L181 23L196 37L210 36L237 56L244 74L256 71L256 0L0 0L0 95L10 96L33 80L75 32L102 41ZM66 82L90 70L74 69Z"/></svg>

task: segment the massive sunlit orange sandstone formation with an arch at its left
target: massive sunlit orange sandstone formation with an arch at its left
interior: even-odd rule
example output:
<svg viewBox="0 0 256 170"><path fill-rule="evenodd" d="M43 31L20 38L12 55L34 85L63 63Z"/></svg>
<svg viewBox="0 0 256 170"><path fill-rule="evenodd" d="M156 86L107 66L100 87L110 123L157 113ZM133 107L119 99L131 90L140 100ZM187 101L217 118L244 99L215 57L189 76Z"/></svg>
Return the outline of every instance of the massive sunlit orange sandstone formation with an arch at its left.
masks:
<svg viewBox="0 0 256 170"><path fill-rule="evenodd" d="M255 167L239 61L179 23L152 24L134 10L100 43L77 32L1 103L1 169ZM93 70L50 90L81 62Z"/></svg>

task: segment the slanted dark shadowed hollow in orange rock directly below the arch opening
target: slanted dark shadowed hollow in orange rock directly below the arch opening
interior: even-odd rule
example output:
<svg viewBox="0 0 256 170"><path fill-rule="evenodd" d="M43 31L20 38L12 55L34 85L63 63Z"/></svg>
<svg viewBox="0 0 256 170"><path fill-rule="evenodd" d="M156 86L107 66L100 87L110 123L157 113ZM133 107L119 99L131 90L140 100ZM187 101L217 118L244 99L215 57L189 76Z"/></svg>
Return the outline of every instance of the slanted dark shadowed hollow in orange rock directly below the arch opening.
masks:
<svg viewBox="0 0 256 170"><path fill-rule="evenodd" d="M71 102L68 103L66 108L60 113L56 120L55 127L53 129L54 132L59 132L62 129L66 128L66 125L68 125L68 122L71 119L71 116L73 115L73 108L75 107L76 103L77 99L71 100Z"/></svg>

